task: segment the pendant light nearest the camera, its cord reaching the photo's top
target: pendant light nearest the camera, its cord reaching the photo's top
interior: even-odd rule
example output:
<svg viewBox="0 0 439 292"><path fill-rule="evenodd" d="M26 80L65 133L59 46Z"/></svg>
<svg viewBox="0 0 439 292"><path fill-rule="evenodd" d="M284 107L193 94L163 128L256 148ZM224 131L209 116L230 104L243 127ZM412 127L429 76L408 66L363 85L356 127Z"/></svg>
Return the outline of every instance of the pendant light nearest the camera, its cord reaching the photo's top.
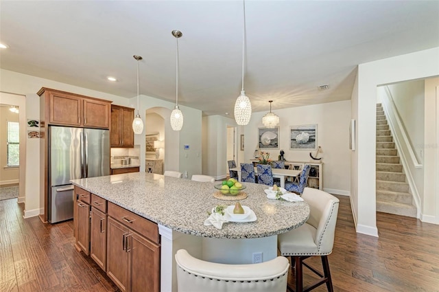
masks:
<svg viewBox="0 0 439 292"><path fill-rule="evenodd" d="M252 104L246 96L244 91L244 47L245 47L245 32L246 32L246 3L243 3L243 21L242 21L242 89L241 95L238 96L235 102L235 121L239 125L246 125L250 122L252 116Z"/></svg>

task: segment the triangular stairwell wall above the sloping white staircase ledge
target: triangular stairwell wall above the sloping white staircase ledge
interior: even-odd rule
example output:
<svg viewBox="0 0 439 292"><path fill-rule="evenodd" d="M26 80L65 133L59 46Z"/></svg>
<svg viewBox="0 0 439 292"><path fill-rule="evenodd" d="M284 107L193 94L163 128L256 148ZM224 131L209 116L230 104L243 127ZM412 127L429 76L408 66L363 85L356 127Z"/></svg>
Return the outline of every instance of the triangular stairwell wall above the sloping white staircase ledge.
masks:
<svg viewBox="0 0 439 292"><path fill-rule="evenodd" d="M424 83L412 80L387 86L418 161L423 156L419 145L424 143Z"/></svg>

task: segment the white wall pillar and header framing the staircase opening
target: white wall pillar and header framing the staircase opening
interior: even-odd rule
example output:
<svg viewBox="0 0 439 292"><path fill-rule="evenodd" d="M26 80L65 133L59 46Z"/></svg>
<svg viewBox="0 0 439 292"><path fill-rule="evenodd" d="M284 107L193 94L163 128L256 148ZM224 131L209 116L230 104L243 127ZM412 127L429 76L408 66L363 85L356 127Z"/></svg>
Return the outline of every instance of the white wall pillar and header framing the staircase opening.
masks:
<svg viewBox="0 0 439 292"><path fill-rule="evenodd" d="M377 86L437 75L439 75L439 47L359 65L356 93L358 102L355 110L358 124L358 147L353 157L356 159L358 175L352 178L354 180L352 184L357 185L358 212L355 214L357 232L378 236L375 214ZM427 128L425 131L427 132ZM437 190L431 195L437 197Z"/></svg>

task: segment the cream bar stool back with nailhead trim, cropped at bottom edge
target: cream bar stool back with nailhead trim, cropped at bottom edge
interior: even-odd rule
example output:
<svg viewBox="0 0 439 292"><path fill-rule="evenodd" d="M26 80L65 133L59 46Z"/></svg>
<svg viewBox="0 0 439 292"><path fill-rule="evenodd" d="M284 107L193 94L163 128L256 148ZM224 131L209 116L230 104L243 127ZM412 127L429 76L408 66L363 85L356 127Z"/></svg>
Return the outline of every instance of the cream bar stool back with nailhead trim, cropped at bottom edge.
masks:
<svg viewBox="0 0 439 292"><path fill-rule="evenodd" d="M178 292L285 292L289 262L278 256L249 265L226 265L176 253Z"/></svg>

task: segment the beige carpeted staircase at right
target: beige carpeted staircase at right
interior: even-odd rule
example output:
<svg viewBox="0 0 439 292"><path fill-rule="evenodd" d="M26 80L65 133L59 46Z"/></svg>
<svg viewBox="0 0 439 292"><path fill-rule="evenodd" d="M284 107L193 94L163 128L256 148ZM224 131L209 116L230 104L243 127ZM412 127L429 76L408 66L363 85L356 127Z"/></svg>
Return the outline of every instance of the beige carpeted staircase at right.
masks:
<svg viewBox="0 0 439 292"><path fill-rule="evenodd" d="M413 196L381 104L377 104L377 212L416 217Z"/></svg>

